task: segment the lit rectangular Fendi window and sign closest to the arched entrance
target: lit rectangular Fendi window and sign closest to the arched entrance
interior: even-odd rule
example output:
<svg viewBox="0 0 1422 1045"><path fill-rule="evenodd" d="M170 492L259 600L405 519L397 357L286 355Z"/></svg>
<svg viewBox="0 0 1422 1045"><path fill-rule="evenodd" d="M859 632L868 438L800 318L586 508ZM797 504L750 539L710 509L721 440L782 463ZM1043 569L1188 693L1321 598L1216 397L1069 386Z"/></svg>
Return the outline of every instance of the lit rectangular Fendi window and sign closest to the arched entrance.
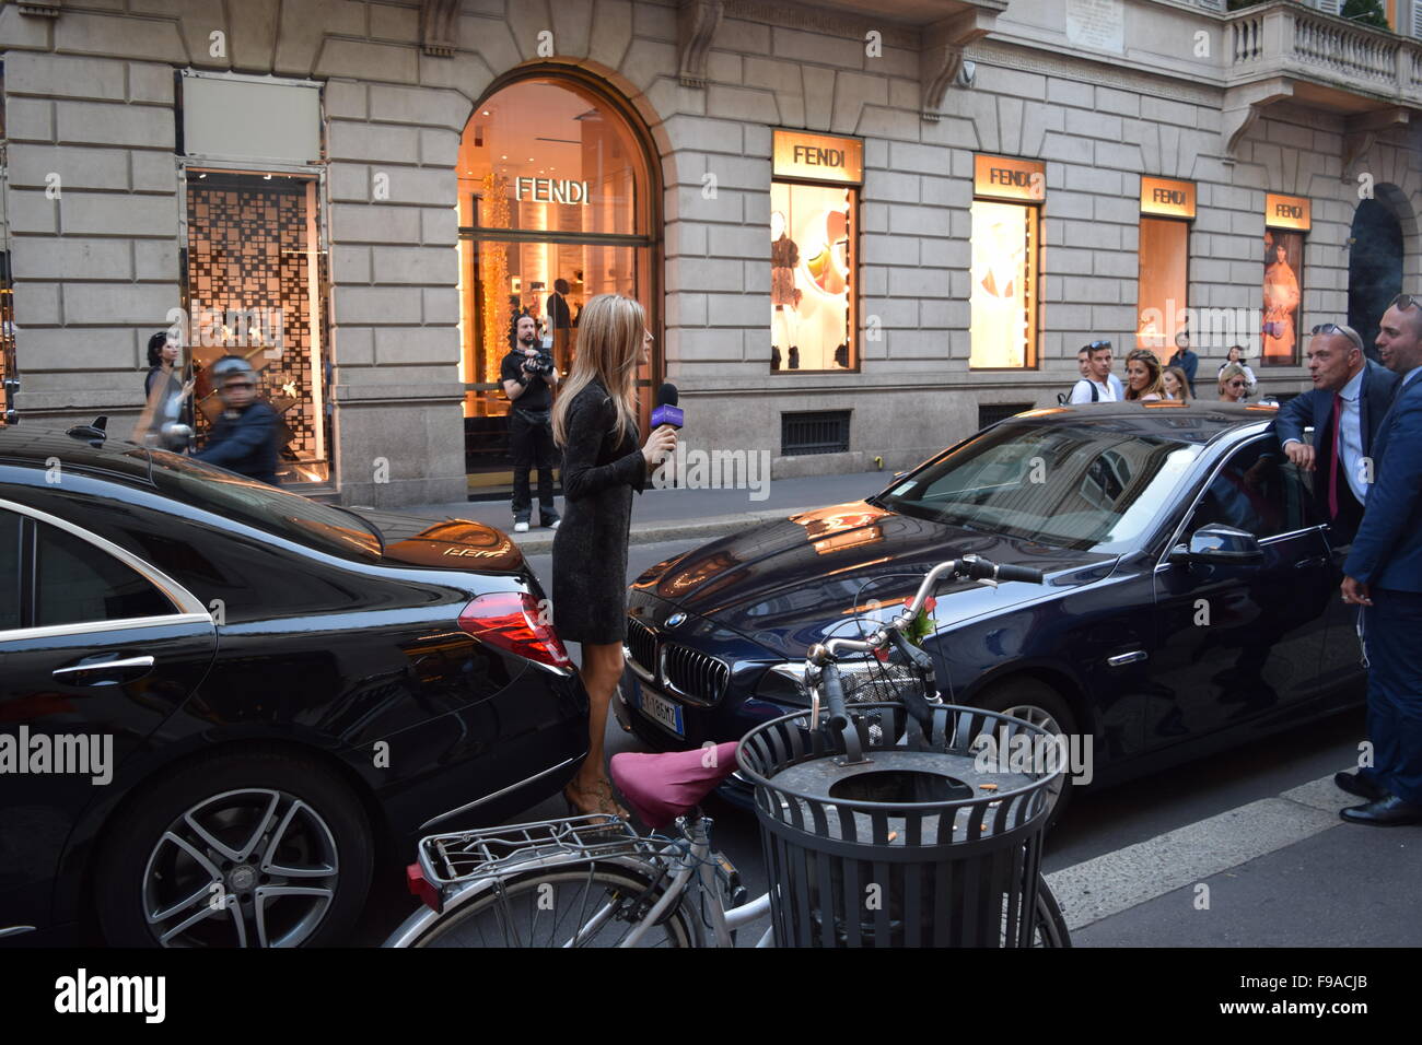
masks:
<svg viewBox="0 0 1422 1045"><path fill-rule="evenodd" d="M771 370L857 370L863 142L776 131L774 159Z"/></svg>

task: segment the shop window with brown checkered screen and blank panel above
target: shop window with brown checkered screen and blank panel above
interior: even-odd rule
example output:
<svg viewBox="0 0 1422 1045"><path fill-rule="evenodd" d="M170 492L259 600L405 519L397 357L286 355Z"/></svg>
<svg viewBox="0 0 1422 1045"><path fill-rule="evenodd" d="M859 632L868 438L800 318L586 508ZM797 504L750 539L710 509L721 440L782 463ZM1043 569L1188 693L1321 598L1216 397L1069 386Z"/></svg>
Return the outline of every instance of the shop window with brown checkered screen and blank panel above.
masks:
<svg viewBox="0 0 1422 1045"><path fill-rule="evenodd" d="M283 483L334 478L320 87L185 70L179 90L185 316L171 313L169 328L193 365L198 445L223 409L208 367L240 355L277 414ZM262 158L257 169L253 156Z"/></svg>

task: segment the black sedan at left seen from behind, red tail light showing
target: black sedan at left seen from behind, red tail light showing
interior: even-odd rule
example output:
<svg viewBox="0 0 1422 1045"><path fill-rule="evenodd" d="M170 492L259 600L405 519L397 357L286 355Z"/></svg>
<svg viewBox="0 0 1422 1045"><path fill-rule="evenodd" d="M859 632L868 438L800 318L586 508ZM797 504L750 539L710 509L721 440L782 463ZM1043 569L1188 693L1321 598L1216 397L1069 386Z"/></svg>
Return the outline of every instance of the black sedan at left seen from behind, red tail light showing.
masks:
<svg viewBox="0 0 1422 1045"><path fill-rule="evenodd" d="M0 428L0 937L340 941L419 833L572 778L587 694L505 535L387 545L90 435Z"/></svg>

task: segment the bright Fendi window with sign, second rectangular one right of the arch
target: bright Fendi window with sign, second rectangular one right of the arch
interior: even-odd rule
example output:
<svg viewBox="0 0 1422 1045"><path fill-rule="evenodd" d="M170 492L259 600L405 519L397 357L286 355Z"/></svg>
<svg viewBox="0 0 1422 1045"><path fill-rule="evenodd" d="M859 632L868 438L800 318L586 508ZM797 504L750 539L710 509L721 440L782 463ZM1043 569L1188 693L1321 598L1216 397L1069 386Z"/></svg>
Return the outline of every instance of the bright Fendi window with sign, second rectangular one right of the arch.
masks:
<svg viewBox="0 0 1422 1045"><path fill-rule="evenodd" d="M974 156L973 370L1037 365L1041 210L1047 168L1030 159Z"/></svg>

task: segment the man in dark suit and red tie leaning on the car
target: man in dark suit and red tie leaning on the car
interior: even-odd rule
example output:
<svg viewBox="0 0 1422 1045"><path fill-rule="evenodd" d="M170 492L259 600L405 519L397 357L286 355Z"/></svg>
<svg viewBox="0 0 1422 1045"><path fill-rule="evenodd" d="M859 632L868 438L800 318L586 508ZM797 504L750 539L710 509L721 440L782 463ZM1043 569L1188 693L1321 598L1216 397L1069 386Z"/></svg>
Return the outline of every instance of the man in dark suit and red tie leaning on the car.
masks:
<svg viewBox="0 0 1422 1045"><path fill-rule="evenodd" d="M1398 375L1362 354L1352 327L1322 323L1308 343L1314 390L1278 411L1274 432L1284 454L1314 473L1318 518L1332 525L1334 546L1352 542L1372 482L1372 444L1398 391ZM1304 442L1313 425L1314 442Z"/></svg>

